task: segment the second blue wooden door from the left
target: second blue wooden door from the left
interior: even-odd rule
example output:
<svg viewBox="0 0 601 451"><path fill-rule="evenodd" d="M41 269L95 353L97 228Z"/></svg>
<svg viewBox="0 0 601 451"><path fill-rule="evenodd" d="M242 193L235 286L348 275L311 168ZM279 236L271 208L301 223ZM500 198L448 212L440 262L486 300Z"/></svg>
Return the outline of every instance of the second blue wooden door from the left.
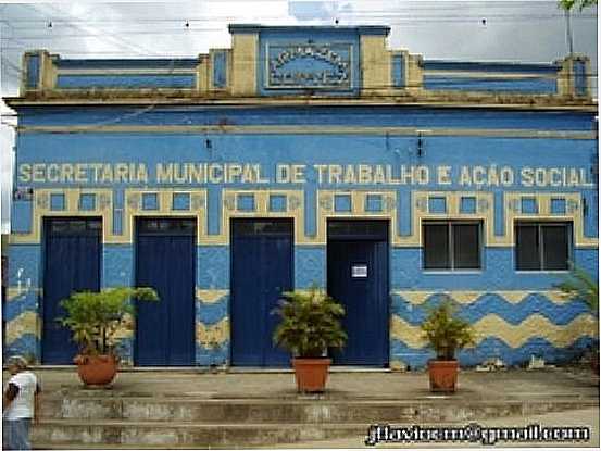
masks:
<svg viewBox="0 0 601 451"><path fill-rule="evenodd" d="M196 221L138 221L136 286L154 288L160 300L137 302L136 365L193 364L195 268Z"/></svg>

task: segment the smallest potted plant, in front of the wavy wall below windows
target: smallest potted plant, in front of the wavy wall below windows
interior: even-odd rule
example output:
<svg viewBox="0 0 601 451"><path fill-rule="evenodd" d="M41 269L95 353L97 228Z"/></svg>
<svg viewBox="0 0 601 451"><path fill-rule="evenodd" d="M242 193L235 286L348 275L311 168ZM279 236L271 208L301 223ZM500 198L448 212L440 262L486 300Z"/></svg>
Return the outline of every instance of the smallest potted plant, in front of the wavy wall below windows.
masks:
<svg viewBox="0 0 601 451"><path fill-rule="evenodd" d="M428 362L430 390L435 392L455 391L459 371L455 352L474 343L472 326L453 313L450 298L446 297L422 324L424 338L436 352L436 359Z"/></svg>

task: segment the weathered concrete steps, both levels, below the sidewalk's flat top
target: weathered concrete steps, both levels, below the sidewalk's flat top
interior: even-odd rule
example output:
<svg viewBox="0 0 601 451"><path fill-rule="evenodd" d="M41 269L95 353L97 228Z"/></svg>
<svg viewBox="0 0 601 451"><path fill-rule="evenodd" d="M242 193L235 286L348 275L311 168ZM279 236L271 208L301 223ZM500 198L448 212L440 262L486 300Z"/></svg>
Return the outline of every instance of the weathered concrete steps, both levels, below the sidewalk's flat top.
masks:
<svg viewBox="0 0 601 451"><path fill-rule="evenodd" d="M365 436L372 424L467 424L599 405L598 399L554 397L472 400L214 399L205 396L120 396L89 391L46 394L33 429L36 448L237 448Z"/></svg>

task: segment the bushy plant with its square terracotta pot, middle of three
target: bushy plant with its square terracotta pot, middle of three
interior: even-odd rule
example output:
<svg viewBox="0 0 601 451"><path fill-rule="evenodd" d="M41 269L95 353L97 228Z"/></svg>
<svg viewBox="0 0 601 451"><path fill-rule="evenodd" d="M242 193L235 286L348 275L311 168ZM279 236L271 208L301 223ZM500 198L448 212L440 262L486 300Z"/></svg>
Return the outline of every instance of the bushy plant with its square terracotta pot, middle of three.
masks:
<svg viewBox="0 0 601 451"><path fill-rule="evenodd" d="M324 391L331 364L327 350L341 349L347 342L339 320L345 308L316 287L309 292L285 292L284 297L274 310L281 318L274 342L292 353L299 392Z"/></svg>

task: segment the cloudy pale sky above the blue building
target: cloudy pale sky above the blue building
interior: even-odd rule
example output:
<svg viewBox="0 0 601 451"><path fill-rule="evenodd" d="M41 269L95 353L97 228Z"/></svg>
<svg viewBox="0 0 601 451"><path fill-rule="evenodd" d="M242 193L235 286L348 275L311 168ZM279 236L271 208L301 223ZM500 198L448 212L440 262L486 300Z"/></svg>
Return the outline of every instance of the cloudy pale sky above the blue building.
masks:
<svg viewBox="0 0 601 451"><path fill-rule="evenodd" d="M229 23L388 25L388 46L425 59L552 62L567 53L556 1L197 0L0 4L1 96L18 95L23 52L64 58L193 58L230 47ZM574 50L597 75L597 10L572 15ZM9 231L16 118L0 102L1 227Z"/></svg>

